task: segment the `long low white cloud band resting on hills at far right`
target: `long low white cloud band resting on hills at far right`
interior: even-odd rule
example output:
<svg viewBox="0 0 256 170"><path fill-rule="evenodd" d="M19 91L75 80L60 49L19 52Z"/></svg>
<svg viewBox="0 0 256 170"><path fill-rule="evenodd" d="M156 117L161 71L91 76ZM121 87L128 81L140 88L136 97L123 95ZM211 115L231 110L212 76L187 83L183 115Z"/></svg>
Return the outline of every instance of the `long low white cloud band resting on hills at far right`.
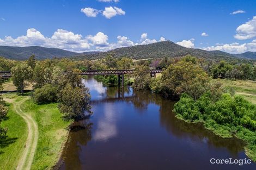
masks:
<svg viewBox="0 0 256 170"><path fill-rule="evenodd" d="M230 43L230 44L218 44L216 46L210 46L203 48L205 50L220 50L231 54L244 53L247 51L256 52L256 40L249 43Z"/></svg>

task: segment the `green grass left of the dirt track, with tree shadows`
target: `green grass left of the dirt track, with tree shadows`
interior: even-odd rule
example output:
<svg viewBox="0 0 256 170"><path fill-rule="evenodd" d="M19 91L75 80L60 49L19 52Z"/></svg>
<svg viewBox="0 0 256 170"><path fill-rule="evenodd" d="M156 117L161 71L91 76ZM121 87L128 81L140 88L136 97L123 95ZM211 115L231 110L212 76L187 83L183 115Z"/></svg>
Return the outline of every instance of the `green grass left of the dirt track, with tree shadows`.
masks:
<svg viewBox="0 0 256 170"><path fill-rule="evenodd" d="M16 169L27 139L27 125L22 117L9 106L8 119L1 126L8 128L6 140L0 140L0 169Z"/></svg>

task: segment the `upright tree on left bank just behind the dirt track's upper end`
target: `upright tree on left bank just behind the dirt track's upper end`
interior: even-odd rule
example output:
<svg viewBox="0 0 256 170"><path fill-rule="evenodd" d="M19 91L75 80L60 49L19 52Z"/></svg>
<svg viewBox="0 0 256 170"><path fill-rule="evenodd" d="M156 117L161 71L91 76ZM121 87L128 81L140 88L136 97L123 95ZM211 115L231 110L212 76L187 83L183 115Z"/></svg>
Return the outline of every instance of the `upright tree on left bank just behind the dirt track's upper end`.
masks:
<svg viewBox="0 0 256 170"><path fill-rule="evenodd" d="M26 81L31 78L32 69L28 64L20 62L15 67L11 69L11 74L13 76L13 84L16 86L17 90L23 95L24 89L27 86Z"/></svg>

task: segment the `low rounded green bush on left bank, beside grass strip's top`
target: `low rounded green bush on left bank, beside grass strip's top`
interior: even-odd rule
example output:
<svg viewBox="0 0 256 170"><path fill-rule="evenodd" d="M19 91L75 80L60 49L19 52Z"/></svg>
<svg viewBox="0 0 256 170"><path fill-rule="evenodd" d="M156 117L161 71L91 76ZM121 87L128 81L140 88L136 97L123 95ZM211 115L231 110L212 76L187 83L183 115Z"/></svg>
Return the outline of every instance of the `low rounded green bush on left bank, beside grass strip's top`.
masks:
<svg viewBox="0 0 256 170"><path fill-rule="evenodd" d="M35 103L45 104L57 102L57 87L46 84L39 89L35 89L33 99Z"/></svg>

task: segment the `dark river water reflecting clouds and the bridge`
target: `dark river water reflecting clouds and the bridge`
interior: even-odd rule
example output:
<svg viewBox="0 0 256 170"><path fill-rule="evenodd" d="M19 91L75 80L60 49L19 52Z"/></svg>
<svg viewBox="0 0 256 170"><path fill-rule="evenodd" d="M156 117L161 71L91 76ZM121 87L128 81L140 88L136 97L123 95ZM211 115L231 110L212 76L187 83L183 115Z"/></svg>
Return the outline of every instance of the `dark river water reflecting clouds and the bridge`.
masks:
<svg viewBox="0 0 256 170"><path fill-rule="evenodd" d="M211 158L248 159L243 143L180 121L171 100L131 87L103 87L93 78L83 82L94 114L74 124L59 169L256 169L255 163L211 164Z"/></svg>

